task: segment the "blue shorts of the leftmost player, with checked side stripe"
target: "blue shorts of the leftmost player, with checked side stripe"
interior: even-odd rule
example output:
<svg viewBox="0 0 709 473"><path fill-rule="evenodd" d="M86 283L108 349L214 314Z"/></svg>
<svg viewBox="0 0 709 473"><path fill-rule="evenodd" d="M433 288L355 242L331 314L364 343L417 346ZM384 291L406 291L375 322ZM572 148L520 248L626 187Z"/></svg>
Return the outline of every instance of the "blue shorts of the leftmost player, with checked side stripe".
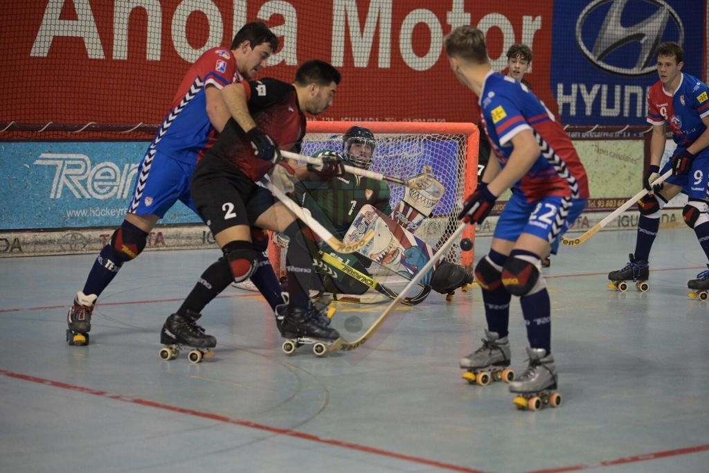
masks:
<svg viewBox="0 0 709 473"><path fill-rule="evenodd" d="M187 164L155 150L148 150L138 168L138 176L133 188L133 200L128 213L135 215L157 215L162 218L177 201L197 213L189 186L197 164ZM199 215L199 214L198 214Z"/></svg>

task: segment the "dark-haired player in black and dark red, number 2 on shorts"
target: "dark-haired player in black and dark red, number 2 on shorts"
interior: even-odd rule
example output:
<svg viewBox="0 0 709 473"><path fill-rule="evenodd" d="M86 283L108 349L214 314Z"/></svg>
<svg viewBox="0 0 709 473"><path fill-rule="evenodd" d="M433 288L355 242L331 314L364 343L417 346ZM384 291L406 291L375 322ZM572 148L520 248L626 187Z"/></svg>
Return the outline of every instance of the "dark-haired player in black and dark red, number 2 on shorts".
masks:
<svg viewBox="0 0 709 473"><path fill-rule="evenodd" d="M250 228L257 226L285 233L290 238L286 253L289 307L279 321L286 338L314 337L334 340L337 330L329 328L313 311L308 298L313 266L301 223L281 202L257 182L269 173L270 180L292 191L293 180L311 171L324 178L341 174L339 162L324 167L291 167L279 148L298 152L306 133L305 113L318 115L332 103L340 72L327 62L311 60L298 67L293 84L265 78L242 81L223 89L230 114L215 145L196 167L192 196L212 231L224 257L199 278L184 303L167 318L161 343L213 347L216 339L206 335L195 321L200 312L231 282L247 279L257 265ZM302 277L298 277L301 275Z"/></svg>

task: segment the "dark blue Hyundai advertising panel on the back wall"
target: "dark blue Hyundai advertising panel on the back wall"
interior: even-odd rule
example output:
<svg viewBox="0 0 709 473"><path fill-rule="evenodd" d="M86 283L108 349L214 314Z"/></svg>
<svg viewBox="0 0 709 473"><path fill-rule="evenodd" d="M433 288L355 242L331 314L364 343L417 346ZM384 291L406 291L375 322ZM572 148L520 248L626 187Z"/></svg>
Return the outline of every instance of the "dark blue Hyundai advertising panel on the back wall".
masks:
<svg viewBox="0 0 709 473"><path fill-rule="evenodd" d="M551 88L562 123L646 124L659 43L684 50L683 72L703 77L702 0L555 1Z"/></svg>

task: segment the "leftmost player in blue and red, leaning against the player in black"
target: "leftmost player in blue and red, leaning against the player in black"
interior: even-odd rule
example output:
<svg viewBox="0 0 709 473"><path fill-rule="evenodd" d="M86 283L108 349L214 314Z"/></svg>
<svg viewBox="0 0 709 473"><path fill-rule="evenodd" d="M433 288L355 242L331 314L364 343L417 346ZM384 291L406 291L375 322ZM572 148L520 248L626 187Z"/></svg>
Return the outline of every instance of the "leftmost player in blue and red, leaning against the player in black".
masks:
<svg viewBox="0 0 709 473"><path fill-rule="evenodd" d="M221 98L223 87L252 79L277 50L279 40L264 23L247 23L230 48L204 52L184 75L170 110L140 163L133 200L125 220L96 258L84 289L67 314L67 341L88 343L91 313L96 299L111 283L123 263L143 251L147 236L177 201L196 212L189 186L199 155L208 148L230 118ZM265 248L264 248L265 249ZM268 262L267 258L262 258ZM252 281L272 305L279 304L280 287L270 265Z"/></svg>

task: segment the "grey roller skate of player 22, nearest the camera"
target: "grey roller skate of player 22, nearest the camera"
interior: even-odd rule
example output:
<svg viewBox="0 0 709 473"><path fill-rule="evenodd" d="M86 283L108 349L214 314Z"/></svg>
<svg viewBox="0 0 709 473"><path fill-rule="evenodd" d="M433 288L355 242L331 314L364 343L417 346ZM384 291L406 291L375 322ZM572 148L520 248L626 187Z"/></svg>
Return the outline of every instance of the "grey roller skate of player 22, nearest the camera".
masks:
<svg viewBox="0 0 709 473"><path fill-rule="evenodd" d="M518 409L539 411L542 407L559 407L562 405L562 395L554 392L557 389L557 367L554 357L547 355L544 348L527 347L529 365L527 370L513 382L510 382L510 392L517 394L513 403Z"/></svg>

